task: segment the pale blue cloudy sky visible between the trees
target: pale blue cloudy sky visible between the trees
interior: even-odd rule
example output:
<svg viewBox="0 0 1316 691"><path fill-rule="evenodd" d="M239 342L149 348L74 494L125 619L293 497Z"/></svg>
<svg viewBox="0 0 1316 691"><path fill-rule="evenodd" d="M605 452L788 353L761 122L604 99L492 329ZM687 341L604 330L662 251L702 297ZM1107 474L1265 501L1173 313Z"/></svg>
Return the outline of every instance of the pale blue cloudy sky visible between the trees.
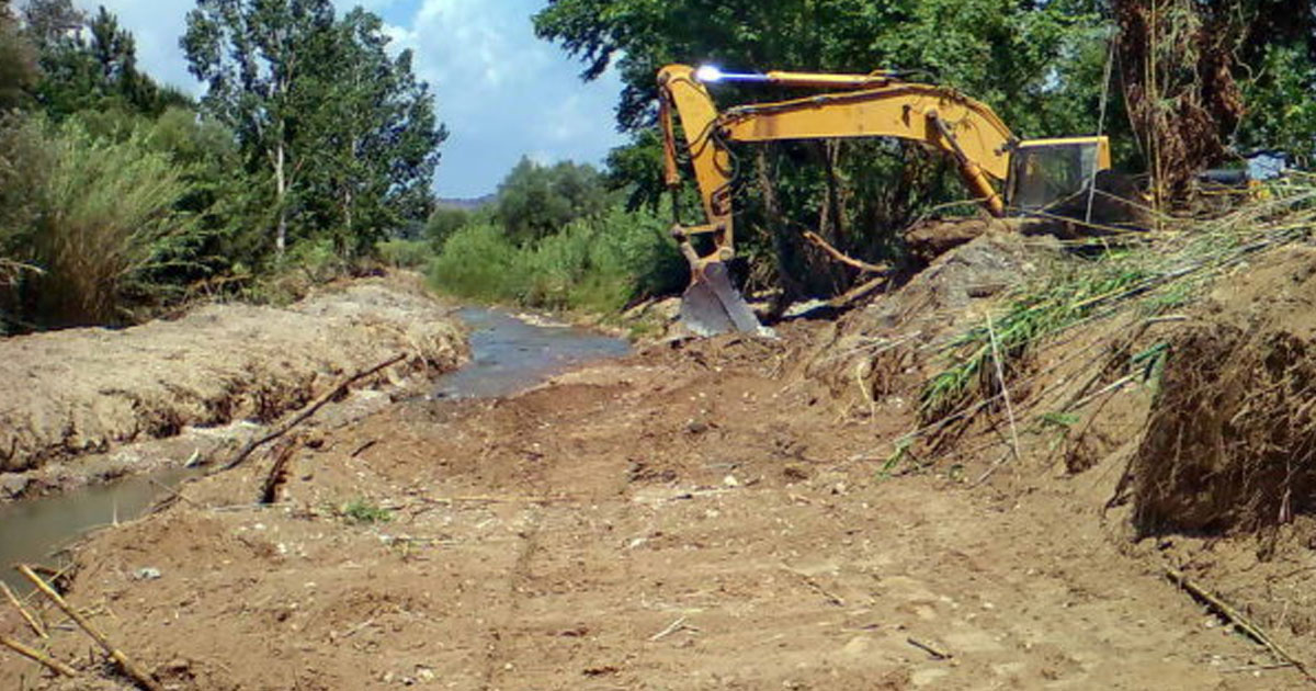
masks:
<svg viewBox="0 0 1316 691"><path fill-rule="evenodd" d="M142 68L161 82L201 93L187 72L178 39L188 0L75 0L118 16L137 38ZM621 83L611 72L584 84L580 64L534 37L530 17L546 0L334 0L379 14L393 47L416 53L417 76L429 82L449 137L436 192L476 197L494 192L521 159L540 163L603 162L621 143L613 108Z"/></svg>

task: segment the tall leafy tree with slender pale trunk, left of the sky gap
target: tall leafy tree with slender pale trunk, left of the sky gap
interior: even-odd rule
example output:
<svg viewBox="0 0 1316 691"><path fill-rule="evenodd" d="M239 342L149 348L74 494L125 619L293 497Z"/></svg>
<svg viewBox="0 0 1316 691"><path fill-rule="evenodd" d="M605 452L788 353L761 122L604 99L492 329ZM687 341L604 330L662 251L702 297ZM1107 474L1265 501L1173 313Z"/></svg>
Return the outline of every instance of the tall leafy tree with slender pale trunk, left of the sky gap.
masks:
<svg viewBox="0 0 1316 691"><path fill-rule="evenodd" d="M341 251L422 220L446 132L411 54L390 59L378 17L338 21L330 0L199 0L182 46L203 108L271 180L274 247L338 228Z"/></svg>

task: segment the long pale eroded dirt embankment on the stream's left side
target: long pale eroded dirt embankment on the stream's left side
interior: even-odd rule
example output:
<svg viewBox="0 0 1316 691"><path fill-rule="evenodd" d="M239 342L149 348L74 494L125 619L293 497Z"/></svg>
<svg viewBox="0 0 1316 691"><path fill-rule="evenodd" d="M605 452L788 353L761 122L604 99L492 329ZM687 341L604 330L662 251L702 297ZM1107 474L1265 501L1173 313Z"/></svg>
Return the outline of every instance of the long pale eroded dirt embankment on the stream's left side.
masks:
<svg viewBox="0 0 1316 691"><path fill-rule="evenodd" d="M212 304L175 321L0 341L0 471L22 471L187 425L265 422L361 369L401 383L465 357L451 308L391 276L287 308Z"/></svg>

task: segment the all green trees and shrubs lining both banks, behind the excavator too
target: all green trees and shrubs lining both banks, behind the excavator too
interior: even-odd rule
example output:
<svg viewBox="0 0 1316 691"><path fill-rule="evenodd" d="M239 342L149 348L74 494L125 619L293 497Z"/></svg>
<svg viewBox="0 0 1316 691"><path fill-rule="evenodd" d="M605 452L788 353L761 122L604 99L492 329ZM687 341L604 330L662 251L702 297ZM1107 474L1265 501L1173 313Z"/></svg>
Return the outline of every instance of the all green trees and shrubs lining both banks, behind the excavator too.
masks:
<svg viewBox="0 0 1316 691"><path fill-rule="evenodd" d="M700 212L691 184L671 204L663 179L654 75L667 62L899 67L991 104L1023 137L1101 129L1120 167L1150 170L1170 192L1192 166L1238 166L1252 149L1309 163L1316 17L1287 7L550 0L532 17L537 34L579 58L584 79L617 70L617 126L632 140L601 171L522 161L472 212L436 208L447 132L412 54L392 50L370 12L197 0L179 41L205 86L197 100L138 70L112 13L0 0L0 333L126 324L192 296L278 299L380 258L461 296L553 309L616 311L678 290L686 270L665 209L686 222ZM1154 36L1138 33L1153 32L1148 12L1163 20ZM722 107L788 95L716 87ZM1191 133L1174 134L1183 113ZM966 196L953 161L911 142L742 146L736 166L750 287L787 297L859 278L801 230L899 261L903 228Z"/></svg>

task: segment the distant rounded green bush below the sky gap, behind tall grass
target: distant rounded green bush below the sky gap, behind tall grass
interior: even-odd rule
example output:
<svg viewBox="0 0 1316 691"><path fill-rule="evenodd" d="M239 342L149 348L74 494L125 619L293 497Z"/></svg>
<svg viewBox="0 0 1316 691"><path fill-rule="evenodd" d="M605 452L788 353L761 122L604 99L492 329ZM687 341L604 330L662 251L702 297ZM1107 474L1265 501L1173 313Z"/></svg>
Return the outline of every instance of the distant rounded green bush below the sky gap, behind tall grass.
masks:
<svg viewBox="0 0 1316 691"><path fill-rule="evenodd" d="M544 238L578 218L597 217L608 207L599 172L570 161L541 166L529 158L499 184L495 215L515 243Z"/></svg>

